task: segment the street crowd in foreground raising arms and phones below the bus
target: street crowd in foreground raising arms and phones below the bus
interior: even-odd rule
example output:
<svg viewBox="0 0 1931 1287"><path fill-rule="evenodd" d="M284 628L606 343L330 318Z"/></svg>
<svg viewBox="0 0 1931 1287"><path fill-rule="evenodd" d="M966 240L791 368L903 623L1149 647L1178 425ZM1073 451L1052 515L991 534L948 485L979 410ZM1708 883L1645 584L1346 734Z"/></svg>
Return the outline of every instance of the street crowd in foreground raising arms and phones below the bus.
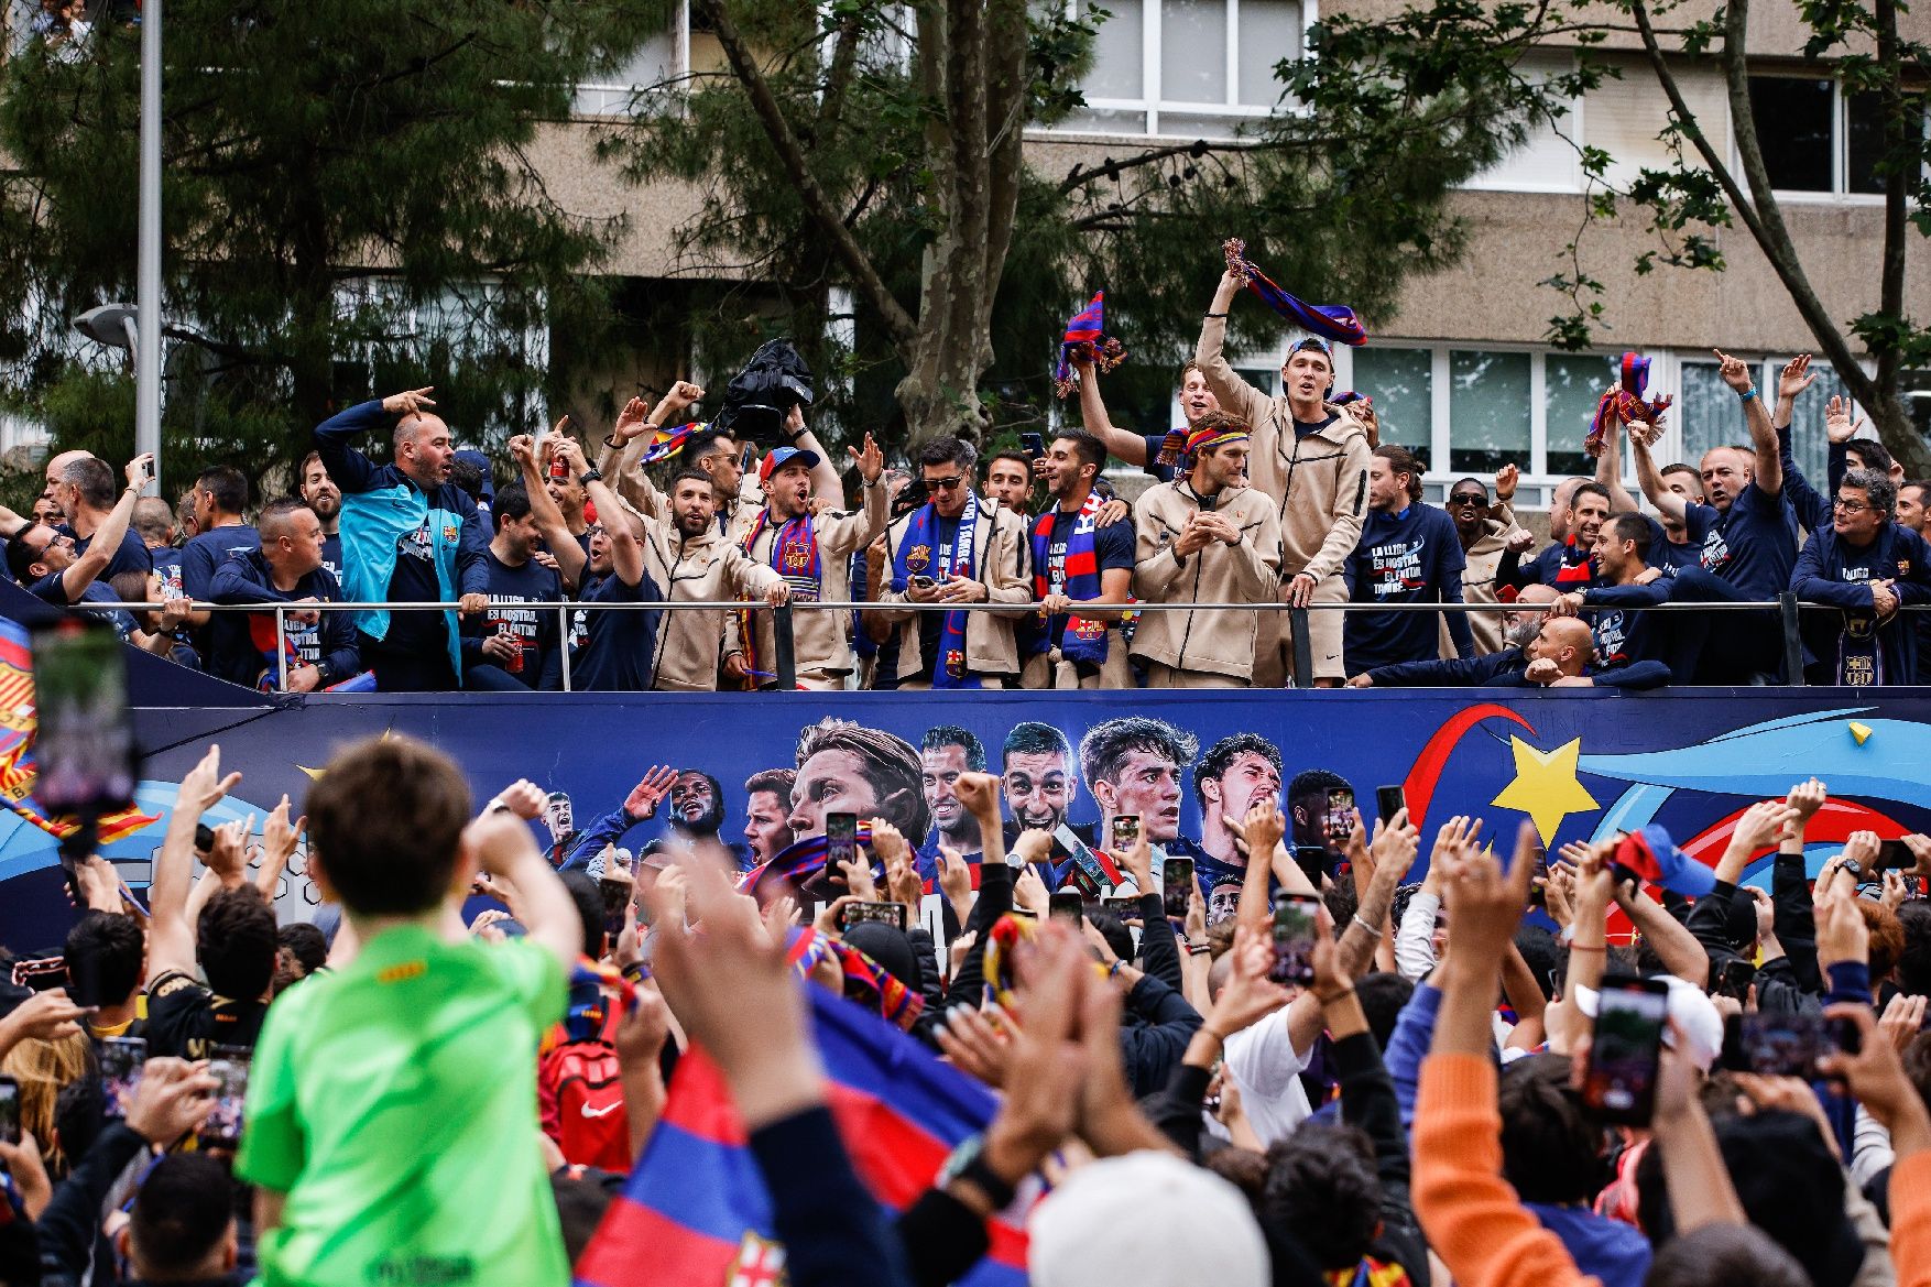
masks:
<svg viewBox="0 0 1931 1287"><path fill-rule="evenodd" d="M0 984L4 1283L1931 1283L1931 839L1811 883L1815 779L1711 870L1655 827L1332 825L1274 775L1217 814L1222 901L1153 827L1056 897L967 771L981 864L942 854L927 920L888 817L796 879L689 829L593 877L541 788L477 812L384 736L251 868L247 823L197 837L226 769L149 908L83 862L60 958ZM689 815L678 777L624 815ZM326 902L278 928L303 837Z"/></svg>

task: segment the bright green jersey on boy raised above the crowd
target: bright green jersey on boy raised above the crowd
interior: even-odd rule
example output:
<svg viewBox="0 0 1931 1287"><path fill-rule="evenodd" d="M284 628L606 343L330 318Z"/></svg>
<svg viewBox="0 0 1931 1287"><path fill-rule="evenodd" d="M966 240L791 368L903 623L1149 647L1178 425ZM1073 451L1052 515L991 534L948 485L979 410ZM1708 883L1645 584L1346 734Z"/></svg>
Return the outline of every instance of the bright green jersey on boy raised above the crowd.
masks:
<svg viewBox="0 0 1931 1287"><path fill-rule="evenodd" d="M282 993L236 1158L241 1179L288 1194L261 1283L564 1287L537 1144L537 1042L564 1007L541 947L421 926Z"/></svg>

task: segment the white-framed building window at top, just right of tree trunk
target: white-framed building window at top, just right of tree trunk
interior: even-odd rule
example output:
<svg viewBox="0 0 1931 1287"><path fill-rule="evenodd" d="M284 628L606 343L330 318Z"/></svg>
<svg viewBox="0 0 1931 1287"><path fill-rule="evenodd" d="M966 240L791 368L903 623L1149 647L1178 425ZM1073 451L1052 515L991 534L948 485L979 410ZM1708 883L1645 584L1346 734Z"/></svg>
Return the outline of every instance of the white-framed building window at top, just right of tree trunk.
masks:
<svg viewBox="0 0 1931 1287"><path fill-rule="evenodd" d="M1280 99L1274 66L1301 56L1300 0L1070 0L1105 10L1077 133L1228 139Z"/></svg>

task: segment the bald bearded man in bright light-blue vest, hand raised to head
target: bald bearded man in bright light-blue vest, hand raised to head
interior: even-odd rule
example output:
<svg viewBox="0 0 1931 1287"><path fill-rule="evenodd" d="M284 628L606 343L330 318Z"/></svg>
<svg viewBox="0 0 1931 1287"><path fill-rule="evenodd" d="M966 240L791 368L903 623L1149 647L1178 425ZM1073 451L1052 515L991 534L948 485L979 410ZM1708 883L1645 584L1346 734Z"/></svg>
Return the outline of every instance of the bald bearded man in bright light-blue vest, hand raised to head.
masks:
<svg viewBox="0 0 1931 1287"><path fill-rule="evenodd" d="M450 481L456 448L431 388L351 406L315 427L315 452L342 489L344 597L450 603L458 613L357 613L361 663L382 692L462 686L458 615L489 607L489 531L475 500ZM390 427L394 464L377 466L351 439Z"/></svg>

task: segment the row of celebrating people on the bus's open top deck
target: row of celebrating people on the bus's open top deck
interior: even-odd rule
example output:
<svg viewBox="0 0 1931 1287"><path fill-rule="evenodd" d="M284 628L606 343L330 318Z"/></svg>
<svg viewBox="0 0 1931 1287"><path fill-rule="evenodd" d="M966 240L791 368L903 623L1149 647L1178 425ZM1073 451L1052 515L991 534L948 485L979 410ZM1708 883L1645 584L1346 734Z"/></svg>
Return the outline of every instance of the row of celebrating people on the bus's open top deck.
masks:
<svg viewBox="0 0 1931 1287"><path fill-rule="evenodd" d="M1931 613L1898 613L1931 597L1931 483L1906 481L1838 398L1827 487L1804 477L1790 421L1815 379L1807 356L1757 390L1719 354L1738 444L1695 466L1651 454L1665 400L1605 398L1597 475L1554 487L1551 543L1531 557L1510 508L1518 468L1425 504L1423 466L1390 441L1415 427L1377 423L1373 390L1336 394L1327 340L1290 348L1278 396L1247 385L1222 354L1240 286L1230 271L1215 294L1172 431L1112 423L1091 348L1068 381L1079 429L989 460L942 437L910 468L867 437L848 473L799 406L753 443L693 423L705 390L684 381L655 408L631 398L602 439L516 437L508 462L456 450L419 388L317 425L299 495L253 524L236 468L203 472L172 512L139 495L145 462L120 491L106 462L62 452L31 516L0 510L6 568L56 605L164 603L93 611L183 665L295 692L774 688L765 609L784 603L796 684L817 690L1780 682L1798 676L1775 613L1651 609L1786 591L1809 605L1805 682L1912 684L1931 669ZM371 437L390 464L363 454ZM1620 477L1624 437L1653 514ZM1159 481L1118 499L1108 458ZM566 599L747 607L529 607ZM311 601L460 609L294 607L280 640L272 615L207 609ZM1245 603L1276 607L1230 607ZM1429 603L1506 611L1402 611ZM1313 609L1311 672L1296 674L1296 618L1278 605Z"/></svg>

